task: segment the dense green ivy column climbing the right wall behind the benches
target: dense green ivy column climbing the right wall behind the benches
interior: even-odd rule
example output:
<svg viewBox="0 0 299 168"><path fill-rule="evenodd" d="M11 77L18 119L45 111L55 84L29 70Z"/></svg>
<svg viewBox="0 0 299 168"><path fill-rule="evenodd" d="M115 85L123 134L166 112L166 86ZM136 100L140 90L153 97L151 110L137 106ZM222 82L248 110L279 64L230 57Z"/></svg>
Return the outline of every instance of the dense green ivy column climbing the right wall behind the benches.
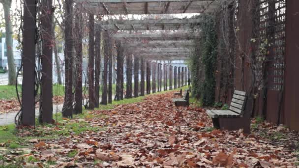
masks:
<svg viewBox="0 0 299 168"><path fill-rule="evenodd" d="M200 39L194 41L195 50L189 59L192 73L192 94L202 99L203 106L212 106L215 100L215 70L217 60L218 39L215 18L211 15L203 17Z"/></svg>

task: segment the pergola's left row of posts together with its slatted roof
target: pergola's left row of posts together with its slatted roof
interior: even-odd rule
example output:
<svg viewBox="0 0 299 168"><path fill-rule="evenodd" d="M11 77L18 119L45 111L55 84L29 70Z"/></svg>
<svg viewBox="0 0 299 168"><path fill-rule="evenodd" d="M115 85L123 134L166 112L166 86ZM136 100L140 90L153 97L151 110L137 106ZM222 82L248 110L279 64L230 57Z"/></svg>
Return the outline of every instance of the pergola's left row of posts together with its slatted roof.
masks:
<svg viewBox="0 0 299 168"><path fill-rule="evenodd" d="M88 14L89 109L99 106L100 63L104 62L101 104L112 103L112 73L116 69L116 100L178 88L187 84L186 66L174 66L172 60L185 60L193 51L192 40L199 36L197 25L204 13L215 12L228 0L65 0L65 98L64 117L82 112L82 39L83 14ZM40 121L52 123L52 0L42 1L42 77ZM78 8L79 6L79 8ZM22 110L18 122L35 124L36 3L24 0ZM85 15L86 16L86 15ZM97 16L97 17L95 17ZM95 18L97 18L95 20ZM86 18L85 18L86 19ZM192 31L190 31L192 30ZM101 33L102 32L102 33ZM103 38L104 37L104 38ZM103 48L100 43L104 41ZM74 50L75 49L75 53ZM103 52L101 50L104 50ZM117 67L113 64L117 53ZM103 55L103 60L101 60ZM124 60L125 59L125 60ZM133 61L134 59L134 61ZM74 61L75 60L75 61ZM164 64L162 64L162 61ZM168 63L165 63L168 61ZM124 72L124 62L126 72ZM76 68L73 68L75 65ZM139 73L140 72L140 73ZM124 73L126 91L124 93ZM76 84L73 75L76 74ZM134 74L134 90L132 78ZM141 80L139 81L139 75ZM163 78L163 79L162 79ZM169 81L169 83L168 83ZM139 86L139 82L141 83ZM156 84L157 83L157 84ZM75 93L73 92L73 86ZM157 86L157 87L156 87ZM169 86L169 87L168 87ZM139 89L140 87L140 89ZM134 91L134 92L133 92ZM73 98L74 97L74 98Z"/></svg>

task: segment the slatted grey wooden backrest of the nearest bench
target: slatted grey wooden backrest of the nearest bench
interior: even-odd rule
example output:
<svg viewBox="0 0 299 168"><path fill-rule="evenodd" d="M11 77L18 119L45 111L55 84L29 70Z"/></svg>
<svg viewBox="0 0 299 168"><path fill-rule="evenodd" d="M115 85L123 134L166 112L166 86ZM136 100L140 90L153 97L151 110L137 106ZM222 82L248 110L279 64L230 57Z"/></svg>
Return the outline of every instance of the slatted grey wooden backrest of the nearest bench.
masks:
<svg viewBox="0 0 299 168"><path fill-rule="evenodd" d="M235 90L229 109L233 112L243 115L244 107L246 104L246 97L246 92Z"/></svg>

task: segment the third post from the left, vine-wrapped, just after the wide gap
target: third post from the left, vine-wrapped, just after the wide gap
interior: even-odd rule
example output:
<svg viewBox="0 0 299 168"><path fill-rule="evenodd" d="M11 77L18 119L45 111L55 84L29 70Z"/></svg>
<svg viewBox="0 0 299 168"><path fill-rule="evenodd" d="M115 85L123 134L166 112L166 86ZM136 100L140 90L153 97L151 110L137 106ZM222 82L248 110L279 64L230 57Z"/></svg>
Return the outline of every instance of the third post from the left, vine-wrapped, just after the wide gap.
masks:
<svg viewBox="0 0 299 168"><path fill-rule="evenodd" d="M73 117L73 0L65 1L65 96L62 116ZM26 31L24 31L26 32ZM25 38L25 37L24 37ZM23 76L24 78L24 76Z"/></svg>

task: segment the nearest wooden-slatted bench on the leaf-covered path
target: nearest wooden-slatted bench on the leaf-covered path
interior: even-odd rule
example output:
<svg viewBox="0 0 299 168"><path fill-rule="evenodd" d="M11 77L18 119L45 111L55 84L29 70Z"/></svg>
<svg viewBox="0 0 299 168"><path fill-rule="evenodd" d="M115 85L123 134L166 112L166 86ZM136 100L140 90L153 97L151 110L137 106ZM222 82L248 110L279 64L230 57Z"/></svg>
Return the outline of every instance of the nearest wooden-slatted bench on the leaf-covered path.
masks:
<svg viewBox="0 0 299 168"><path fill-rule="evenodd" d="M235 90L229 110L207 110L215 128L221 130L239 130L250 133L250 112L244 113L246 92Z"/></svg>

